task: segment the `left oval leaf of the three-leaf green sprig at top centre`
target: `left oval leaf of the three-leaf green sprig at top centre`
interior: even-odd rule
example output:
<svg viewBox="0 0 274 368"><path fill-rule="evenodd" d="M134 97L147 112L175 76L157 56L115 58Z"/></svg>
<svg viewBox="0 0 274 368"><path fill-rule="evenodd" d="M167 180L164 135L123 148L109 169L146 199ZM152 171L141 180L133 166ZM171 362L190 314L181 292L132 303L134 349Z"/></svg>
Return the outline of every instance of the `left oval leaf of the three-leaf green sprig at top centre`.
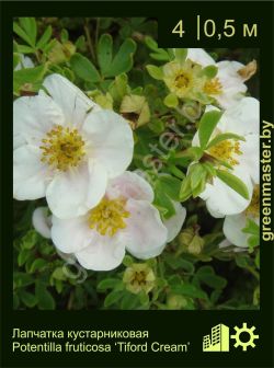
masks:
<svg viewBox="0 0 274 368"><path fill-rule="evenodd" d="M81 54L73 54L70 58L70 66L75 73L85 82L99 82L101 77L94 65Z"/></svg>

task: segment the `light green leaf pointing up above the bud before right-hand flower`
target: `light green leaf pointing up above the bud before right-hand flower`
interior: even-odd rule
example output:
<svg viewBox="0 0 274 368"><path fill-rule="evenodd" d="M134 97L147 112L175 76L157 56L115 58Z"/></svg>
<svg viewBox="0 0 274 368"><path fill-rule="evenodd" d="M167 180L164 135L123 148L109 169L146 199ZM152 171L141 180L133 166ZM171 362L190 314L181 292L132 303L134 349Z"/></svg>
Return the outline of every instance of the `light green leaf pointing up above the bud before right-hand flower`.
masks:
<svg viewBox="0 0 274 368"><path fill-rule="evenodd" d="M216 128L216 125L218 124L221 114L222 113L220 111L214 110L203 115L198 126L198 138L202 149L206 148L206 145L214 129Z"/></svg>

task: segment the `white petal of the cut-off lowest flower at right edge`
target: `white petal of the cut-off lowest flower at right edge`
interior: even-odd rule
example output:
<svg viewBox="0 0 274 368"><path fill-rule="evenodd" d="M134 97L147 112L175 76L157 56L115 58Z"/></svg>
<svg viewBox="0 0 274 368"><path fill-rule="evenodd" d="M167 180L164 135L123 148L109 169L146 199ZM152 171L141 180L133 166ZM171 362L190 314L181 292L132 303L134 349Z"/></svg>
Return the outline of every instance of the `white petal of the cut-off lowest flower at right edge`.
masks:
<svg viewBox="0 0 274 368"><path fill-rule="evenodd" d="M248 239L250 234L242 232L246 226L247 216L244 214L226 216L222 227L224 234L233 245L249 246Z"/></svg>

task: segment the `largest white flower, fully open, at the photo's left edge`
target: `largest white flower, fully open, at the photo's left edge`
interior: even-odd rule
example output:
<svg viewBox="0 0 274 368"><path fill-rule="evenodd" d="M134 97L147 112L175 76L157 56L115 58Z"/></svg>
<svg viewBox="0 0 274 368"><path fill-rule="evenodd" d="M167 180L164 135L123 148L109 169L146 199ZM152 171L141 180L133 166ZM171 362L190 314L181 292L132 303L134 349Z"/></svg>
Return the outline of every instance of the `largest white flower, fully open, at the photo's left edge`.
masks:
<svg viewBox="0 0 274 368"><path fill-rule="evenodd" d="M13 196L46 196L56 216L80 216L130 163L133 133L66 78L52 74L44 88L49 95L41 91L13 104Z"/></svg>

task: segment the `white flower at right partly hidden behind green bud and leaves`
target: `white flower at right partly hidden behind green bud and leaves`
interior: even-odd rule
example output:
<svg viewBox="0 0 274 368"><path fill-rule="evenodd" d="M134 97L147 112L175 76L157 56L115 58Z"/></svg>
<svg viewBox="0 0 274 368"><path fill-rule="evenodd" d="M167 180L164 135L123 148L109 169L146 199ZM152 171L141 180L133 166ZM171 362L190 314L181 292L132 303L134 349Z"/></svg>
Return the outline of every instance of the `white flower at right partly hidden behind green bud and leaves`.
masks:
<svg viewBox="0 0 274 368"><path fill-rule="evenodd" d="M216 110L208 106L207 111L213 108ZM207 153L228 162L233 168L231 173L242 180L250 194L250 199L244 199L220 179L214 177L213 183L207 183L205 191L199 195L206 200L207 209L214 217L242 212L251 200L253 184L259 183L259 101L244 97L225 111L213 133L213 137L232 133L246 139L222 140L213 146ZM192 146L199 146L198 133L194 136Z"/></svg>

